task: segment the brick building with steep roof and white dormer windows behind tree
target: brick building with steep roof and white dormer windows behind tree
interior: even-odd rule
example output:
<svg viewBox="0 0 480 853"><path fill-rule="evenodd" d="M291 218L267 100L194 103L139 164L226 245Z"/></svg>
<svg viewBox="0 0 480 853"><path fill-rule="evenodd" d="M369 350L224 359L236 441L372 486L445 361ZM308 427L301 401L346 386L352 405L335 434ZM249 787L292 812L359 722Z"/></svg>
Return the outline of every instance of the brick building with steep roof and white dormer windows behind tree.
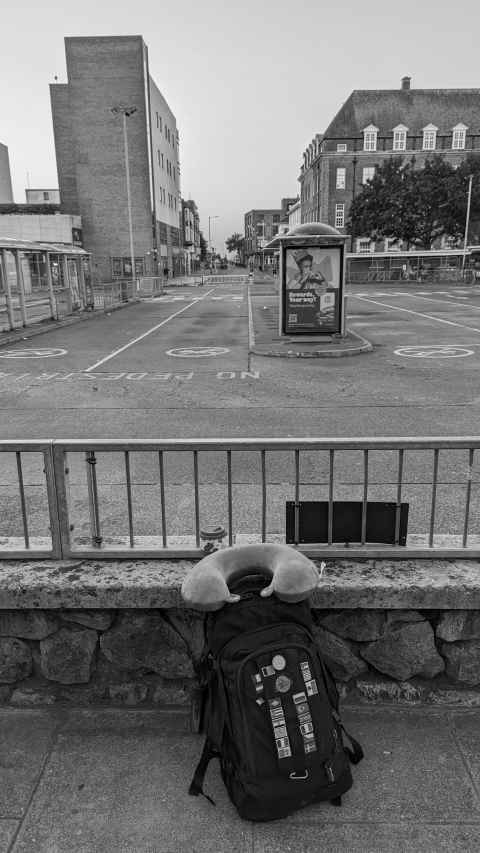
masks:
<svg viewBox="0 0 480 853"><path fill-rule="evenodd" d="M480 156L480 89L355 90L325 133L303 153L302 222L345 230L350 205L375 169L392 156L423 166L439 153L453 164ZM353 251L369 240L356 236Z"/></svg>

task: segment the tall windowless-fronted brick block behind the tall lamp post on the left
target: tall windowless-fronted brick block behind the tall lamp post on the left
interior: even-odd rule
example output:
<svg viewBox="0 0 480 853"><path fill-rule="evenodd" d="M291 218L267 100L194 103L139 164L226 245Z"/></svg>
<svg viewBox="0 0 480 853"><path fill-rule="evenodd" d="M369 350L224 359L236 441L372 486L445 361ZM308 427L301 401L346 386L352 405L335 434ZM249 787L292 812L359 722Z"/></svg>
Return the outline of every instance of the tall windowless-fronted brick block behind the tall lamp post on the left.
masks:
<svg viewBox="0 0 480 853"><path fill-rule="evenodd" d="M68 83L50 86L62 211L82 217L100 280L131 273L123 117L135 267L182 271L179 136L141 36L66 38Z"/></svg>

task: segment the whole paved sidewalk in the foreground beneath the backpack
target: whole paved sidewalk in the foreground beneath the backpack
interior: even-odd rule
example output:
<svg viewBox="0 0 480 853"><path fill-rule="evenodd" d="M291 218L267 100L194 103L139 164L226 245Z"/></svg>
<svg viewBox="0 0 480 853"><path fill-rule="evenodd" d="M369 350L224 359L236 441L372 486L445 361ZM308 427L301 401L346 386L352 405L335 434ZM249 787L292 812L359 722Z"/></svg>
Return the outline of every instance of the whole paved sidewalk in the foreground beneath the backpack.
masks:
<svg viewBox="0 0 480 853"><path fill-rule="evenodd" d="M365 749L341 809L240 820L202 738L159 710L0 710L0 853L478 853L480 710L345 707Z"/></svg>

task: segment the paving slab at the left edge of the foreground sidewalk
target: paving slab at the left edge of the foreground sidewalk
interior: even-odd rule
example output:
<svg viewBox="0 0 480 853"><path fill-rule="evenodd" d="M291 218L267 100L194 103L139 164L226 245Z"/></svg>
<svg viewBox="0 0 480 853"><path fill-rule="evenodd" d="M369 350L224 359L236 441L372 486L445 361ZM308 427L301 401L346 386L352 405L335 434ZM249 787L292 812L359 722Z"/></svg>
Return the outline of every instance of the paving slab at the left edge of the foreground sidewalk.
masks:
<svg viewBox="0 0 480 853"><path fill-rule="evenodd" d="M0 710L1 820L25 814L58 725L58 716L53 713ZM1 832L0 829L0 840Z"/></svg>

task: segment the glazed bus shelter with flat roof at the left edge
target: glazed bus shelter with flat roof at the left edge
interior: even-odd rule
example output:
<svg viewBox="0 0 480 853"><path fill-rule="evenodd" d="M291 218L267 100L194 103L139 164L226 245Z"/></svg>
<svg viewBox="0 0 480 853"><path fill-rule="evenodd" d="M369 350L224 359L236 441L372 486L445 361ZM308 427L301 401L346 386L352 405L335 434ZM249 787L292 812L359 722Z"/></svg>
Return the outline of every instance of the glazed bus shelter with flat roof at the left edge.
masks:
<svg viewBox="0 0 480 853"><path fill-rule="evenodd" d="M63 243L0 238L0 331L91 307L88 252Z"/></svg>

